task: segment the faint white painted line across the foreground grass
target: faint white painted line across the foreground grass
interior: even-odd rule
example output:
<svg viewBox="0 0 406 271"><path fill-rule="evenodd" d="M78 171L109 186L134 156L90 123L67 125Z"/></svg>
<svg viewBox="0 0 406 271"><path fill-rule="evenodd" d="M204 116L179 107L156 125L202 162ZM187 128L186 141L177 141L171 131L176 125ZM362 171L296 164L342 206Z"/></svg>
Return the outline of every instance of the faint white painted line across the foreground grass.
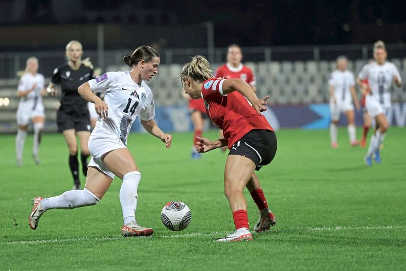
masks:
<svg viewBox="0 0 406 271"><path fill-rule="evenodd" d="M388 230L388 229L406 229L406 226L378 226L378 227L306 227L306 228L296 228L298 230L305 229L308 231L343 231L343 230ZM157 238L184 238L184 237L194 237L194 236L214 236L222 235L226 232L212 232L212 233L179 233L179 234L168 234L168 235L158 235ZM149 238L149 237L147 237ZM152 236L152 238L154 238ZM83 241L112 241L123 239L121 236L115 237L77 237L77 238L65 238L65 239L44 239L44 240L28 240L28 241L12 241L5 242L6 245L30 245L30 244L47 244L47 243L66 243L66 242L83 242ZM2 244L2 243L0 243Z"/></svg>

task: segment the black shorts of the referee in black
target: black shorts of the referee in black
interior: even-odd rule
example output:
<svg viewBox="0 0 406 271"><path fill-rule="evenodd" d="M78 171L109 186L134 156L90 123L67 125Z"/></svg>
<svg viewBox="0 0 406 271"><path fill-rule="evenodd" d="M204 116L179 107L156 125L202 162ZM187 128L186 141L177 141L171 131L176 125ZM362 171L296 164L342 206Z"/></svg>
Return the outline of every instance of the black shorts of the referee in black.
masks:
<svg viewBox="0 0 406 271"><path fill-rule="evenodd" d="M76 132L90 132L91 126L89 109L87 108L87 105L83 108L81 107L59 107L58 111L56 112L58 133L69 129L75 129Z"/></svg>

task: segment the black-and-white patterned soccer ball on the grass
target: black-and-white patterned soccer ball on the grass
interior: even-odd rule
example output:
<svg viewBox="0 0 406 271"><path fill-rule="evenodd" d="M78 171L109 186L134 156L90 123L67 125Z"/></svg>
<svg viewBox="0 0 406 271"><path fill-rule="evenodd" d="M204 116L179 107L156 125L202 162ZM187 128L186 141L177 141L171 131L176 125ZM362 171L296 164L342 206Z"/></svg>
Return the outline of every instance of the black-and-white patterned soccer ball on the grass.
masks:
<svg viewBox="0 0 406 271"><path fill-rule="evenodd" d="M161 219L166 228L181 231L189 226L192 213L189 207L180 201L170 201L163 206Z"/></svg>

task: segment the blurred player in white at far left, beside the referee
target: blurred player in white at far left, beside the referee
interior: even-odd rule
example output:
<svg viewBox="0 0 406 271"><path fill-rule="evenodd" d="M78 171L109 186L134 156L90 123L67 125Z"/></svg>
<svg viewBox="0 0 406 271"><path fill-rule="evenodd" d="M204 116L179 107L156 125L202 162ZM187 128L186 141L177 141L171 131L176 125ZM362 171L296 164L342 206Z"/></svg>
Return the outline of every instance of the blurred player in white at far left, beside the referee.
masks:
<svg viewBox="0 0 406 271"><path fill-rule="evenodd" d="M25 138L27 137L28 122L32 121L34 128L32 158L38 165L38 150L41 142L41 133L45 123L45 111L42 103L42 96L46 95L44 88L44 76L38 72L37 57L29 57L26 62L25 71L18 83L17 96L20 102L17 109L17 136L16 153L17 165L22 165L22 152Z"/></svg>

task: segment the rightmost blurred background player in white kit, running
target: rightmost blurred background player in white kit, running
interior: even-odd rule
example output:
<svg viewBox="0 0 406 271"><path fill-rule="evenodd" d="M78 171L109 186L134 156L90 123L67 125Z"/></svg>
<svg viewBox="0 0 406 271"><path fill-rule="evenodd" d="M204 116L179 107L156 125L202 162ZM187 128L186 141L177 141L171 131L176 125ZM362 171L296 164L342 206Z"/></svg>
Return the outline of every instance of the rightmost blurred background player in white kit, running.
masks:
<svg viewBox="0 0 406 271"><path fill-rule="evenodd" d="M375 162L381 163L380 145L389 127L386 113L391 106L390 87L394 82L398 87L402 81L396 66L386 61L388 54L385 43L378 41L374 44L375 62L365 65L358 74L357 83L368 90L365 97L365 107L369 115L376 120L376 130L369 141L368 152L364 158L367 166ZM362 81L368 79L368 85Z"/></svg>

